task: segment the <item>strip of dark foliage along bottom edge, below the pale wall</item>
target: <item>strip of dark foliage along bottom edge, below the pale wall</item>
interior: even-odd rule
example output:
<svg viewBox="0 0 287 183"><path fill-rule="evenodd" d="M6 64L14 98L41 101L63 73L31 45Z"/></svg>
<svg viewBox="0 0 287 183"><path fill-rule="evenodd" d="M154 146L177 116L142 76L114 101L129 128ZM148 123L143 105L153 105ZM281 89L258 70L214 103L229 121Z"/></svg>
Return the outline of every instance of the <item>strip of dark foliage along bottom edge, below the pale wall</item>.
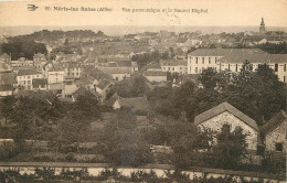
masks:
<svg viewBox="0 0 287 183"><path fill-rule="evenodd" d="M55 175L55 170L53 169L35 169L35 174L20 174L19 171L6 170L0 172L0 181L6 182L10 180L11 182L46 182L46 181L68 181L68 182L78 182L78 181L110 181L110 182L146 182L146 183L237 183L238 180L242 183L263 183L264 180L253 180L249 181L245 177L236 176L208 176L203 174L202 176L194 175L190 177L188 173L181 171L166 171L164 176L159 176L152 170L147 171L136 171L131 172L130 176L123 175L117 169L105 169L98 175L91 175L86 170L65 170L63 169L59 175ZM267 181L268 182L268 181Z"/></svg>

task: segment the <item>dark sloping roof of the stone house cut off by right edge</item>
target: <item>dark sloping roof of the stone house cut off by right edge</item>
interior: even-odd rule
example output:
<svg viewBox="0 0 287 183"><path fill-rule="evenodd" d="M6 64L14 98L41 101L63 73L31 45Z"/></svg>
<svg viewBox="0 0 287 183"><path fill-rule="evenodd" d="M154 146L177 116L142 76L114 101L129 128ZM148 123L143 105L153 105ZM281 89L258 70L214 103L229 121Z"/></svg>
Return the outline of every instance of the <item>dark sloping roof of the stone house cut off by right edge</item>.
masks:
<svg viewBox="0 0 287 183"><path fill-rule="evenodd" d="M263 125L262 132L264 134L272 132L276 129L284 120L287 120L287 114L285 111L279 111L269 121Z"/></svg>

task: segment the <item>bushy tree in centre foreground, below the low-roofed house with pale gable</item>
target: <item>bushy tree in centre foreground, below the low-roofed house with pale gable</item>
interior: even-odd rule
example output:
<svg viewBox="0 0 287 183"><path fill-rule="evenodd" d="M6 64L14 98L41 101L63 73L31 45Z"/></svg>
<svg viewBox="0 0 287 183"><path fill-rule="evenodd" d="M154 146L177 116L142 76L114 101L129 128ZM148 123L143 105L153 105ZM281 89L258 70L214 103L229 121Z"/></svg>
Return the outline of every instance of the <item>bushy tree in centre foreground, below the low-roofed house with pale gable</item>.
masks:
<svg viewBox="0 0 287 183"><path fill-rule="evenodd" d="M109 162L131 166L151 162L149 144L145 143L136 127L136 118L127 109L119 111L117 118L105 126L104 154Z"/></svg>

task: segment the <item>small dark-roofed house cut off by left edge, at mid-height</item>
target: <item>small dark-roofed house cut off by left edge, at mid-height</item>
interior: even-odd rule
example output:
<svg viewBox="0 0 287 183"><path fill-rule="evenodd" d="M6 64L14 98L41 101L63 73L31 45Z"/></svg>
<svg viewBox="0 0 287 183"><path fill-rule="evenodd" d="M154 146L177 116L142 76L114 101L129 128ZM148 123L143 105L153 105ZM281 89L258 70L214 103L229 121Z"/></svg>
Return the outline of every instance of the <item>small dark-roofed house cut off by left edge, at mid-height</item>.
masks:
<svg viewBox="0 0 287 183"><path fill-rule="evenodd" d="M15 83L13 73L0 73L0 97L12 95Z"/></svg>

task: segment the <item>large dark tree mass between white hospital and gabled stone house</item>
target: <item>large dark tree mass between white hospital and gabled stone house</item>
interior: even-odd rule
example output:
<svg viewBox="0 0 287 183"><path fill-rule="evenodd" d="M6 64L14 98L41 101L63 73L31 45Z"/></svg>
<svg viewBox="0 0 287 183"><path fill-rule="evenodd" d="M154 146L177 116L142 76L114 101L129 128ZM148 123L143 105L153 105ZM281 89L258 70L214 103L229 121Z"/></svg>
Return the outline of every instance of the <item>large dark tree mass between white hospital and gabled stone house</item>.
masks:
<svg viewBox="0 0 287 183"><path fill-rule="evenodd" d="M268 65L259 65L258 69L253 72L252 65L245 62L241 73L232 76L222 97L255 119L259 126L286 108L284 83L278 80Z"/></svg>

